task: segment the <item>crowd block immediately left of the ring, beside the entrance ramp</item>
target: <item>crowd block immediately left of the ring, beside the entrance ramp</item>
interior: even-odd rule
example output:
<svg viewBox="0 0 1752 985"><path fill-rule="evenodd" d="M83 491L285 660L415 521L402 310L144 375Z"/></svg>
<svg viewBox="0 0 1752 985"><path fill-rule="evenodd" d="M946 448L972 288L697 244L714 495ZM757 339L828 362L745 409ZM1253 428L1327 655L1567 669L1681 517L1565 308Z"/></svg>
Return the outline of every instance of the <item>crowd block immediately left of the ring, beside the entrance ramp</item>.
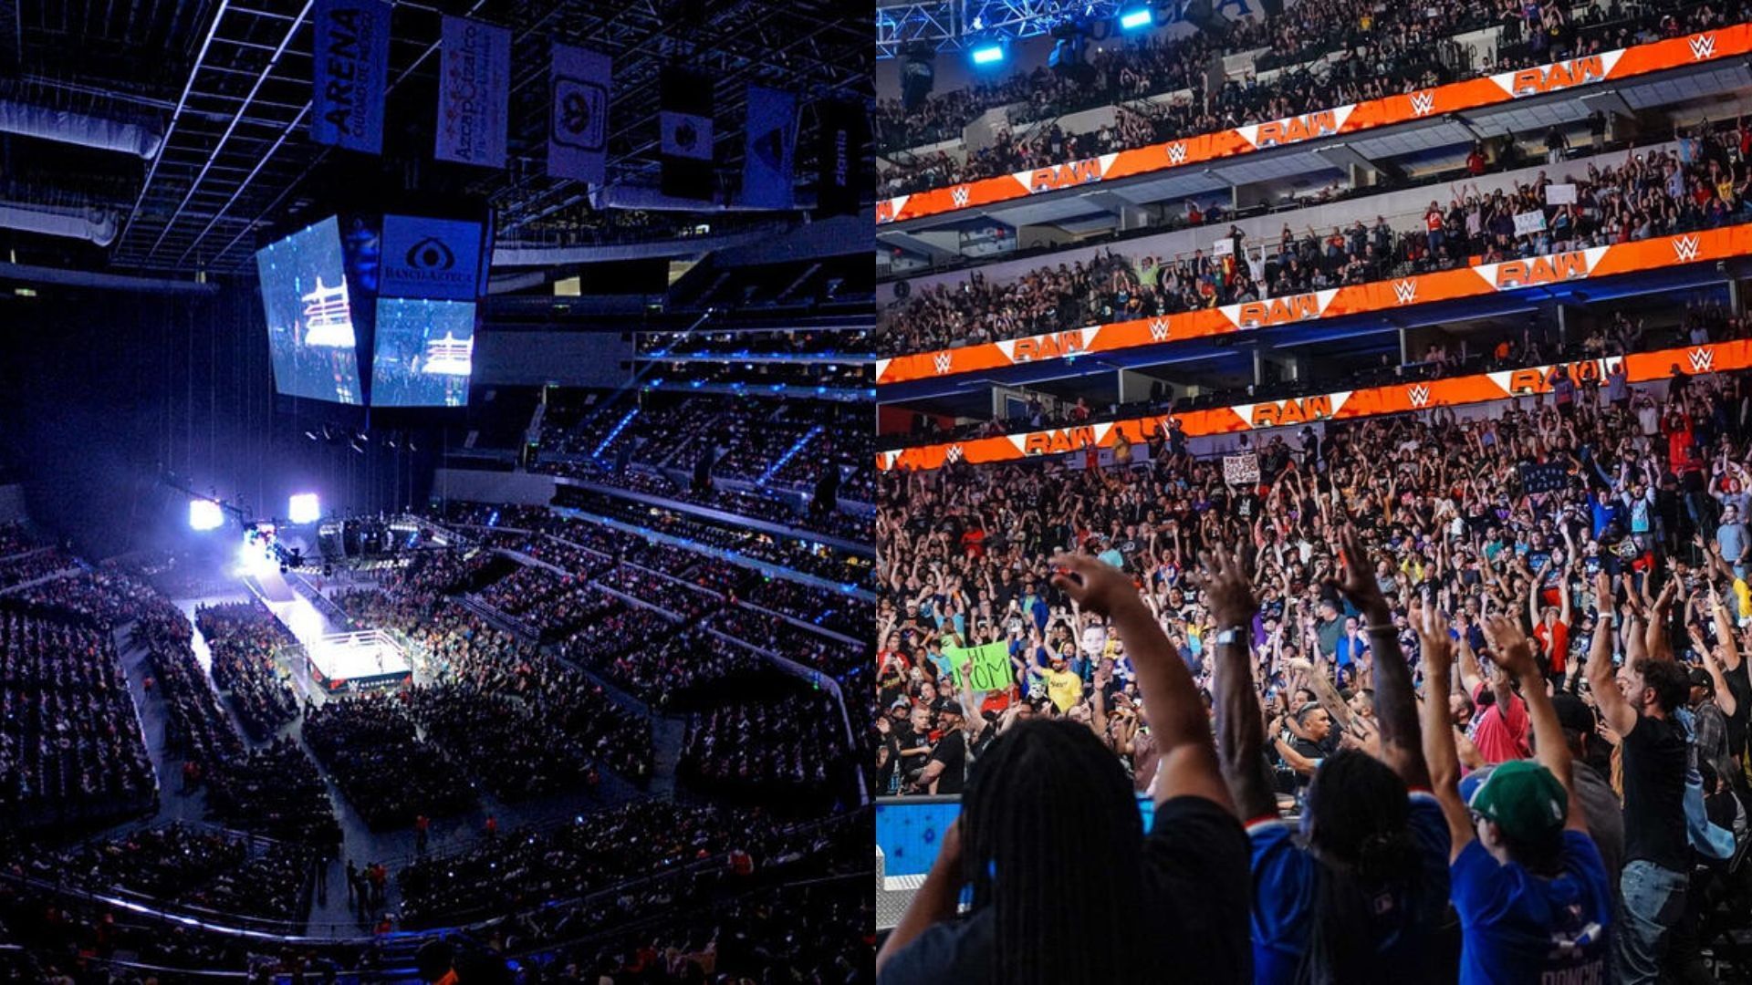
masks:
<svg viewBox="0 0 1752 985"><path fill-rule="evenodd" d="M244 733L261 741L298 719L291 666L303 650L261 601L194 610L194 626L212 652L214 687L231 699Z"/></svg>

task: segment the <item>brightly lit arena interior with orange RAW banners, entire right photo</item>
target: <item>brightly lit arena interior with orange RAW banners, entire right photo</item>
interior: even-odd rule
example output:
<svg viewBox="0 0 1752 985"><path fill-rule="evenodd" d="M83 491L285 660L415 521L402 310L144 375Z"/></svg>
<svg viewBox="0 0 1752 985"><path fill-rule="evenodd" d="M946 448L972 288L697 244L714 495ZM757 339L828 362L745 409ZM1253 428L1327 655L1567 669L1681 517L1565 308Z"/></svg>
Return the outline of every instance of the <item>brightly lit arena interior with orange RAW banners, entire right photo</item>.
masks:
<svg viewBox="0 0 1752 985"><path fill-rule="evenodd" d="M1745 981L1752 7L876 35L880 978Z"/></svg>

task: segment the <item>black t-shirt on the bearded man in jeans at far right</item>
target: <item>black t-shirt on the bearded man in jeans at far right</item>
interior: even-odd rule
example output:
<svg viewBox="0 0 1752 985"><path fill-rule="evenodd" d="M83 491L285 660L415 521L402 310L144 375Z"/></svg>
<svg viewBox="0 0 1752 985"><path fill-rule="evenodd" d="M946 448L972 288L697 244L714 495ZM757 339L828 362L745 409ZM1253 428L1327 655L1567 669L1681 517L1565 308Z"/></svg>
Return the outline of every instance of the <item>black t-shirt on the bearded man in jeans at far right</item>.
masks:
<svg viewBox="0 0 1752 985"><path fill-rule="evenodd" d="M1624 734L1624 861L1684 873L1685 740L1678 726L1638 715Z"/></svg>

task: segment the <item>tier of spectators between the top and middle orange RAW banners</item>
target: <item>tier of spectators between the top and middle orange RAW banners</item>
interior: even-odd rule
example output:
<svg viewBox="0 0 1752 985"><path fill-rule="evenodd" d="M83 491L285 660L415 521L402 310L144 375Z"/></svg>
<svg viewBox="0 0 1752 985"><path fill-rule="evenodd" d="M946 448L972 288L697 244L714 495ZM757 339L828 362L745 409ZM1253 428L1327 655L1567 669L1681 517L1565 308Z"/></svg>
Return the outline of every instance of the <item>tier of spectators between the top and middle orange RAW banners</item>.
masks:
<svg viewBox="0 0 1752 985"><path fill-rule="evenodd" d="M995 284L971 273L892 305L881 319L885 351L916 352L1062 331L1097 322L1172 315L1556 251L1741 223L1752 209L1743 149L1752 130L1719 124L1682 135L1677 151L1631 151L1617 167L1589 165L1575 202L1551 205L1544 172L1529 184L1489 193L1456 186L1419 216L1354 221L1318 233L1284 226L1272 242L1233 233L1235 252L1190 258L1120 254L1046 265ZM1517 235L1515 216L1540 212L1542 230Z"/></svg>

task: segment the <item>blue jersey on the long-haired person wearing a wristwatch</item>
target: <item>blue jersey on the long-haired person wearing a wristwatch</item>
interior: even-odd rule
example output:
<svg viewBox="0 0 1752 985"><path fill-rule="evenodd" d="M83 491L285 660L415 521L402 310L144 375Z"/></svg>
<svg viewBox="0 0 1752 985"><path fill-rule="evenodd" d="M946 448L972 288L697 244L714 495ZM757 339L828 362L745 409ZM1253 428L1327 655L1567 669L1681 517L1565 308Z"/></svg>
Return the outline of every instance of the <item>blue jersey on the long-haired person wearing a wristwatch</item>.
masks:
<svg viewBox="0 0 1752 985"><path fill-rule="evenodd" d="M1412 794L1410 833L1423 869L1416 885L1370 903L1375 918L1367 932L1379 959L1379 974L1370 976L1375 980L1433 980L1428 966L1440 952L1435 939L1447 913L1452 841L1435 796L1423 790ZM1247 826L1247 838L1253 841L1253 980L1256 985L1288 985L1296 981L1314 938L1325 868L1296 841L1286 820L1254 822Z"/></svg>

